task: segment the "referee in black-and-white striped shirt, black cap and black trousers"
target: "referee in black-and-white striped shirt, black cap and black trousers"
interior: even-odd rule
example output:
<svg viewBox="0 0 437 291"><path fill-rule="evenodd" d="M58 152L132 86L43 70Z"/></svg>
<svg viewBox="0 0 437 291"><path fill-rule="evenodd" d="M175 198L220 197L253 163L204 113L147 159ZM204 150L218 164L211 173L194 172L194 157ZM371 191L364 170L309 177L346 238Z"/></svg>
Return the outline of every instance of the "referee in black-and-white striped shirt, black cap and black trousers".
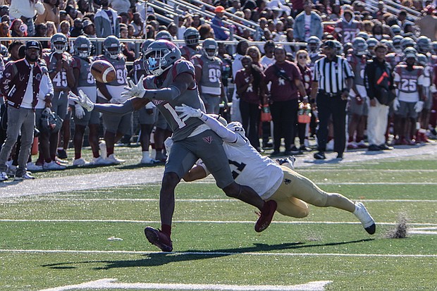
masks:
<svg viewBox="0 0 437 291"><path fill-rule="evenodd" d="M342 56L336 56L336 44L327 40L323 44L325 56L314 64L312 99L316 100L319 111L317 130L318 151L314 159L326 159L328 121L332 116L334 128L334 151L337 159L343 159L346 144L346 104L347 95L354 78L350 64Z"/></svg>

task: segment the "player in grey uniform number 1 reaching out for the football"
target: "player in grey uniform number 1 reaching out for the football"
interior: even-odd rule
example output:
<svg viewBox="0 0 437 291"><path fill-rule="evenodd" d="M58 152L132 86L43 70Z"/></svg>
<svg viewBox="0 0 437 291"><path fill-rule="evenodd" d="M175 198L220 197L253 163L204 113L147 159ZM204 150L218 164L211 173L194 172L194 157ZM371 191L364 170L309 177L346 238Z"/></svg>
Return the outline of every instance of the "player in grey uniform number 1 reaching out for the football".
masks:
<svg viewBox="0 0 437 291"><path fill-rule="evenodd" d="M216 179L216 184L227 196L240 199L261 210L261 216L255 224L255 230L265 230L276 211L276 202L264 202L252 188L239 185L230 173L223 141L198 118L181 120L175 106L188 104L204 111L195 82L195 68L182 58L175 44L164 39L149 44L144 54L144 67L150 74L140 82L130 82L132 87L124 96L133 97L123 104L93 104L85 94L80 97L71 94L71 99L88 111L121 115L152 101L161 111L173 130L173 151L168 156L161 183L159 210L161 230L152 227L144 229L147 240L164 252L171 252L171 223L175 209L175 188L180 179L192 168L198 159L202 159ZM211 155L214 153L214 155Z"/></svg>

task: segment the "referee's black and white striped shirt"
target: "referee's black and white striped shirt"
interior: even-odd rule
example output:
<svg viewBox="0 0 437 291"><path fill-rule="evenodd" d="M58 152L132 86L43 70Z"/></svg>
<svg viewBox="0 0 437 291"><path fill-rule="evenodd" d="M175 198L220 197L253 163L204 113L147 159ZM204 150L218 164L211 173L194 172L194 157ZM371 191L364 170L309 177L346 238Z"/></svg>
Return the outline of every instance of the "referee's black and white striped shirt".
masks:
<svg viewBox="0 0 437 291"><path fill-rule="evenodd" d="M331 94L340 94L347 89L345 80L355 77L349 62L342 56L336 56L332 61L325 56L316 61L313 70L313 80L319 82L319 90Z"/></svg>

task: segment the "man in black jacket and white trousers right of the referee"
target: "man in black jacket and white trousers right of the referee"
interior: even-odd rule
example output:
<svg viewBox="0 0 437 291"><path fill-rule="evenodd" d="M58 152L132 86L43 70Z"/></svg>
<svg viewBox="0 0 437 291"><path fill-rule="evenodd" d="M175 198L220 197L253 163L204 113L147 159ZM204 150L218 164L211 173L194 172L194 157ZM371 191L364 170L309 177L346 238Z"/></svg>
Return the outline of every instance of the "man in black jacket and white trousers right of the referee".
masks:
<svg viewBox="0 0 437 291"><path fill-rule="evenodd" d="M369 96L369 115L367 117L367 139L369 151L392 149L386 145L388 109L395 97L393 74L386 62L387 47L377 44L375 56L367 62L364 69L364 85Z"/></svg>

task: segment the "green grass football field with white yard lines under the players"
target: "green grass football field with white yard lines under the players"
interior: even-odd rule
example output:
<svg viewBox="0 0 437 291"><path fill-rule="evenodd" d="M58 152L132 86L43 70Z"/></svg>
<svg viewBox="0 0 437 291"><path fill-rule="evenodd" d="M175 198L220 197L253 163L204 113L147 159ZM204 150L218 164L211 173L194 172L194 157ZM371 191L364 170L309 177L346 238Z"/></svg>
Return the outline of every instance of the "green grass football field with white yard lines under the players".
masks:
<svg viewBox="0 0 437 291"><path fill-rule="evenodd" d="M123 166L35 175L66 182L131 169L147 175L147 167L135 166L137 149L118 152ZM181 183L174 252L165 254L143 233L146 225L160 226L158 184L6 198L0 290L437 290L436 156L297 171L324 190L361 199L376 234L351 213L315 206L304 219L276 213L255 233L254 207L228 199L214 182ZM400 218L407 219L407 237L389 238Z"/></svg>

